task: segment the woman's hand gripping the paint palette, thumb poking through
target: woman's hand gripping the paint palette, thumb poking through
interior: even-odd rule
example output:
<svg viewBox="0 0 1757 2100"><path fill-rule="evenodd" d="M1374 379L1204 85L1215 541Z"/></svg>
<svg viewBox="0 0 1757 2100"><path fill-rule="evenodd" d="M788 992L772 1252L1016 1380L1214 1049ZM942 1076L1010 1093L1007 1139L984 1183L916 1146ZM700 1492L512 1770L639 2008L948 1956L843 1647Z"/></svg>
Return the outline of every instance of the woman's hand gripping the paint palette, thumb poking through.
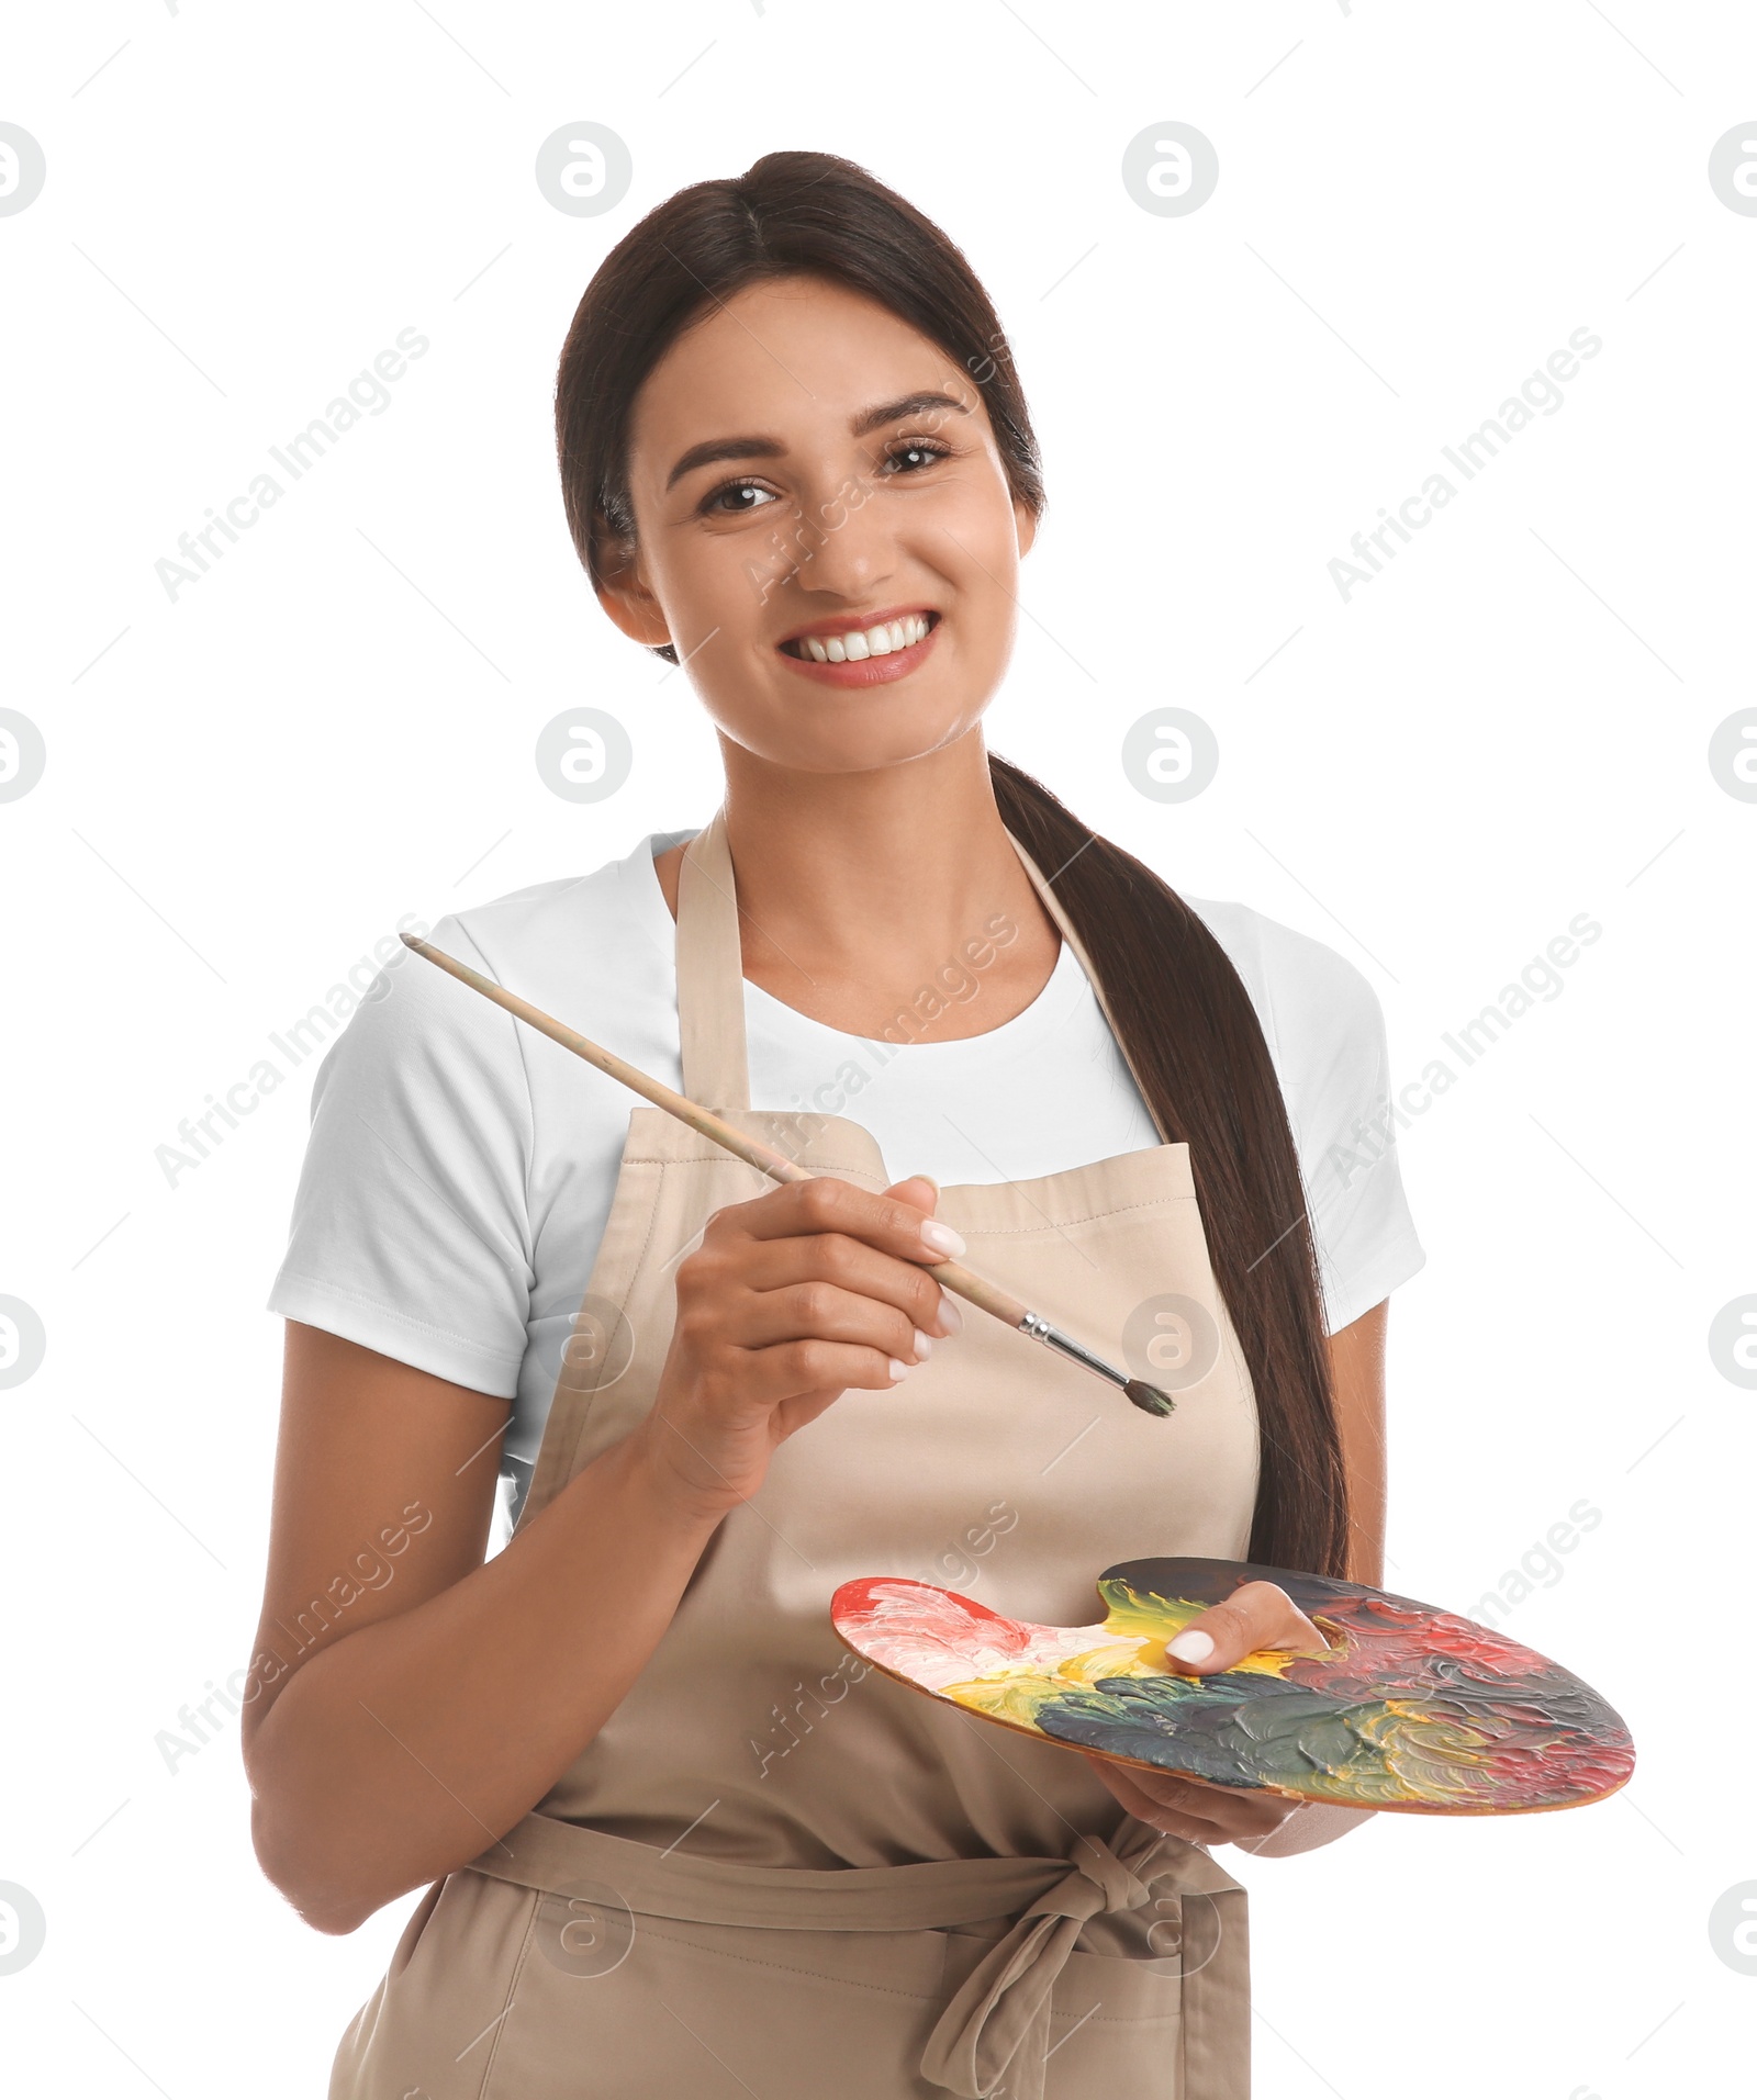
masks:
<svg viewBox="0 0 1757 2100"><path fill-rule="evenodd" d="M1272 1581L1246 1581L1223 1604L1200 1613L1166 1657L1194 1678L1232 1670L1257 1648L1322 1651L1328 1642L1295 1600ZM1145 1772L1082 1751L1097 1777L1131 1816L1190 1844L1238 1844L1246 1850L1269 1838L1301 1806L1282 1793L1253 1787L1215 1787L1175 1772Z"/></svg>

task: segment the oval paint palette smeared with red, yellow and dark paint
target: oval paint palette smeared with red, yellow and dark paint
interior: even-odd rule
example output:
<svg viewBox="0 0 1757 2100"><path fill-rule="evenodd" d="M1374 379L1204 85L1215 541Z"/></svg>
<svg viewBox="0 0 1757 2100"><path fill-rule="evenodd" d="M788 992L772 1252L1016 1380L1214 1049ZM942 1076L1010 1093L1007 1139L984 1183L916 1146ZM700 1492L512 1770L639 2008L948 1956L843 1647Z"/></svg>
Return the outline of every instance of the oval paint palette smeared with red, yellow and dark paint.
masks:
<svg viewBox="0 0 1757 2100"><path fill-rule="evenodd" d="M1263 1648L1198 1678L1164 1644L1242 1581L1274 1581L1328 1648ZM1532 1648L1387 1590L1242 1560L1124 1560L1099 1625L1030 1625L933 1583L868 1575L830 1604L900 1684L1124 1764L1414 1814L1520 1814L1614 1793L1622 1720Z"/></svg>

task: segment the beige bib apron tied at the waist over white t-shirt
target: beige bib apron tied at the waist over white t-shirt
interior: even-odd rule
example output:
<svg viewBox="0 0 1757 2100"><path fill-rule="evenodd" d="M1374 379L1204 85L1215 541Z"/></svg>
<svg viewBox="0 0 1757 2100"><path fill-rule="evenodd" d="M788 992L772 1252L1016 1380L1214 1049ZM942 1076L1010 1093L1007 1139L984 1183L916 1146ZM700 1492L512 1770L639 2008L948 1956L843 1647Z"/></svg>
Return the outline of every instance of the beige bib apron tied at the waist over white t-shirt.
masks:
<svg viewBox="0 0 1757 2100"><path fill-rule="evenodd" d="M847 1117L746 1107L723 813L683 857L677 1002L696 1100L864 1189L910 1170ZM521 1525L643 1418L679 1258L769 1186L633 1111ZM330 2100L1246 2100L1244 1890L1120 1814L1074 1751L868 1670L828 1615L839 1583L906 1575L1078 1625L1114 1560L1244 1558L1257 1411L1187 1147L950 1186L937 1216L1112 1361L1145 1300L1198 1300L1215 1365L1156 1420L969 1308L902 1386L845 1392L721 1522L538 1810L427 1892Z"/></svg>

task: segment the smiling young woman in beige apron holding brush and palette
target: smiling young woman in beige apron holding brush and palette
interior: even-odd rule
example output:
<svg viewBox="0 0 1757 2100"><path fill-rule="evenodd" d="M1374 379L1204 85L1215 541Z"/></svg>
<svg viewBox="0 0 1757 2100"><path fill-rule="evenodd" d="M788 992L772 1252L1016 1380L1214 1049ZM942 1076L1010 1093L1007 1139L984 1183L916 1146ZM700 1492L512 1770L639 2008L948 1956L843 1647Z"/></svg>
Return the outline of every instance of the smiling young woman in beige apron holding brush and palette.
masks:
<svg viewBox="0 0 1757 2100"><path fill-rule="evenodd" d="M660 206L557 422L599 601L687 668L725 802L435 941L824 1178L631 1113L412 960L330 1052L273 1296L254 1835L324 1932L433 1884L332 2096L1238 2100L1211 1848L1358 1816L1007 1735L828 1604L893 1573L1080 1623L1145 1554L1379 1579L1421 1250L1396 1155L1324 1166L1383 1090L1377 1002L986 752L1036 447L969 265L868 174L773 153ZM1137 1371L1169 1298L1215 1346L1137 1413L960 1317L929 1266L965 1250ZM1322 1640L1269 1581L1192 1632L1196 1674Z"/></svg>

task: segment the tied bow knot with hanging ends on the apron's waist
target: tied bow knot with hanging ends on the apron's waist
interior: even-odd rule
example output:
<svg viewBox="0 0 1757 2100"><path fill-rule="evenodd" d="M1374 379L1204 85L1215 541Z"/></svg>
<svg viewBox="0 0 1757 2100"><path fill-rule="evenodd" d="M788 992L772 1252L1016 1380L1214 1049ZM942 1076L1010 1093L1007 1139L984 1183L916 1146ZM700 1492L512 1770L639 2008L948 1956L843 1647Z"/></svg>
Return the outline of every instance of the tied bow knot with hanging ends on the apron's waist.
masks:
<svg viewBox="0 0 1757 2100"><path fill-rule="evenodd" d="M1042 2100L1049 2001L1080 1926L1099 1911L1135 1911L1152 1896L1152 1831L1122 1856L1101 1838L1068 1846L1068 1873L981 1957L952 1995L927 2048L921 2075L958 2100Z"/></svg>

